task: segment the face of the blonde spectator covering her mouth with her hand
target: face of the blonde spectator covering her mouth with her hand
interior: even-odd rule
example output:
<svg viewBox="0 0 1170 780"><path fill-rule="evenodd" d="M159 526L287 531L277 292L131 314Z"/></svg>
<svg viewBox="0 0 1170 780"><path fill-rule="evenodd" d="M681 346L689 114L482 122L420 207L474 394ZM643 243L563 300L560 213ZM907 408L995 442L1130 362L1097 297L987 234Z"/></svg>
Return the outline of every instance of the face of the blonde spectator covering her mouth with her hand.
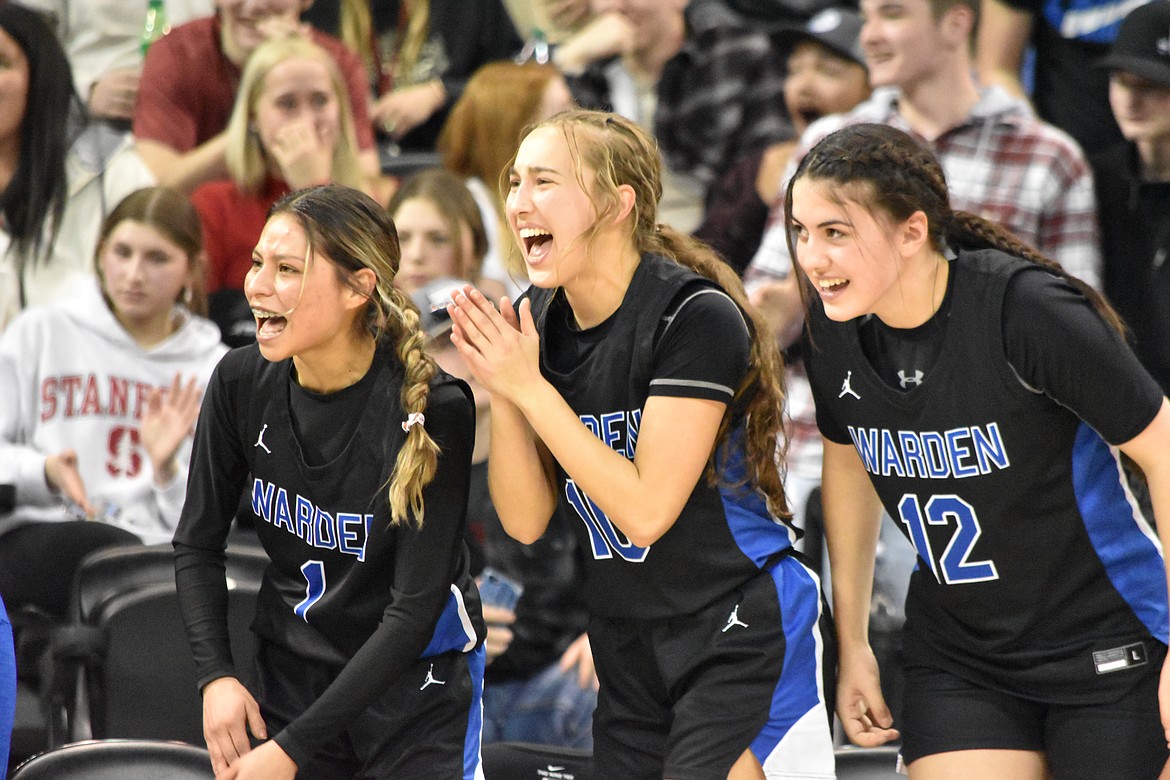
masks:
<svg viewBox="0 0 1170 780"><path fill-rule="evenodd" d="M264 149L294 124L311 126L317 138L333 147L340 136L340 106L325 63L291 57L274 67L253 106L253 124Z"/></svg>

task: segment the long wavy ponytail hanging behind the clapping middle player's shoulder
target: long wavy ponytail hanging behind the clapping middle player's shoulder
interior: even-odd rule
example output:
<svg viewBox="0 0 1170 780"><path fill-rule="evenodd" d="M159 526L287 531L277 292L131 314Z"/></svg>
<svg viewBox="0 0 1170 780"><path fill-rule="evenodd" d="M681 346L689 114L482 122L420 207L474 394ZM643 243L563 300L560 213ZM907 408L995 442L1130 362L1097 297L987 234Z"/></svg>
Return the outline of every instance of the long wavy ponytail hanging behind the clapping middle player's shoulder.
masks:
<svg viewBox="0 0 1170 780"><path fill-rule="evenodd" d="M718 284L749 319L752 338L748 373L736 388L735 399L723 413L715 441L727 442L731 427L731 409L750 394L744 415L746 474L743 482L732 486L753 485L764 493L768 510L775 517L790 520L792 512L789 511L784 496L783 475L784 455L787 450L783 417L784 359L776 346L776 339L770 336L768 323L748 303L748 294L739 276L707 244L666 225L658 226L658 230L647 240L647 244L646 251L665 255ZM720 483L718 460L718 447L716 447L704 472L707 482L713 485Z"/></svg>

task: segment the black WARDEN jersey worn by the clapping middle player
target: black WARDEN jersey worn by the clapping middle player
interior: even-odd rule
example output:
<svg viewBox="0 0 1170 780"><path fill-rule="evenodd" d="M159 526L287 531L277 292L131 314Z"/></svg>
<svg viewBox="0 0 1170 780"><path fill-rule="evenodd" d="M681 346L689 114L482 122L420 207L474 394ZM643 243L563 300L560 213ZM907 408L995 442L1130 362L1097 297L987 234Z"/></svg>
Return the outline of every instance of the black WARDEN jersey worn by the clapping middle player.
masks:
<svg viewBox="0 0 1170 780"><path fill-rule="evenodd" d="M546 333L550 311L567 306L558 290L531 288L526 294L541 333L541 371L591 432L633 460L655 380L655 333L663 317L684 294L725 294L674 261L644 255L621 306L607 320L605 338L578 365L557 371L552 366L560 361L550 359ZM718 348L720 340L720 333L711 333L706 348ZM745 474L741 439L736 427L721 448L720 470L728 484ZM697 612L756 575L793 541L791 529L769 513L757 491L711 486L706 478L670 530L649 547L631 544L559 464L557 489L558 511L583 551L586 601L596 615L660 619Z"/></svg>

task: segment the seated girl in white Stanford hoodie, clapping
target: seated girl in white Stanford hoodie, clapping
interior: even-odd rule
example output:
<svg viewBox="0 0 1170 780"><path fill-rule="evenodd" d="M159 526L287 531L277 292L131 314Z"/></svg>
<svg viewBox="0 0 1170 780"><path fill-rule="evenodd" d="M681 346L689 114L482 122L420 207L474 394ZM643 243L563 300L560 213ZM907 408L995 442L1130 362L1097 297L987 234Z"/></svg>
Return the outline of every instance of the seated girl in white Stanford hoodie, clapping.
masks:
<svg viewBox="0 0 1170 780"><path fill-rule="evenodd" d="M226 348L202 304L199 215L132 193L102 225L98 281L0 336L0 594L61 617L89 552L179 522L201 388ZM194 310L194 311L192 311ZM101 520L101 522L95 522Z"/></svg>

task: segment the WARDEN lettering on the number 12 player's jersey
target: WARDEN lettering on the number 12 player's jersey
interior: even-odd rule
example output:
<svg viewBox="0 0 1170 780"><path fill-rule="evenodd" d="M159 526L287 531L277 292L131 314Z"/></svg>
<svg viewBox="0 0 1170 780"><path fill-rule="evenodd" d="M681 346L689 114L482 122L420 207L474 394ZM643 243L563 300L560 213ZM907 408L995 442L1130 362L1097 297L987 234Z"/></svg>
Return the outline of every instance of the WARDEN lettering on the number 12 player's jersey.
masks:
<svg viewBox="0 0 1170 780"><path fill-rule="evenodd" d="M945 432L848 429L866 471L881 477L962 479L1011 465L996 422Z"/></svg>

